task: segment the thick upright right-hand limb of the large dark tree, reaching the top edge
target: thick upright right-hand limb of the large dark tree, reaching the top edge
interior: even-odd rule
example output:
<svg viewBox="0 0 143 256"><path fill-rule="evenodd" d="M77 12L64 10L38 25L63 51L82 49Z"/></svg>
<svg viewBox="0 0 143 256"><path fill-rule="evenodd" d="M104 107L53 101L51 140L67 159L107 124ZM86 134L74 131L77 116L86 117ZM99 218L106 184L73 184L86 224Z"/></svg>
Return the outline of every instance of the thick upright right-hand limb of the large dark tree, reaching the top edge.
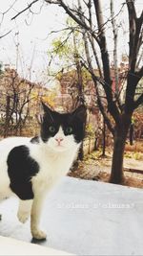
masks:
<svg viewBox="0 0 143 256"><path fill-rule="evenodd" d="M125 112L133 113L134 94L138 81L143 76L143 67L139 71L136 70L137 55L142 43L143 32L141 27L143 24L143 12L137 18L134 7L134 0L126 0L129 12L130 25L130 42L129 42L129 71L127 75Z"/></svg>

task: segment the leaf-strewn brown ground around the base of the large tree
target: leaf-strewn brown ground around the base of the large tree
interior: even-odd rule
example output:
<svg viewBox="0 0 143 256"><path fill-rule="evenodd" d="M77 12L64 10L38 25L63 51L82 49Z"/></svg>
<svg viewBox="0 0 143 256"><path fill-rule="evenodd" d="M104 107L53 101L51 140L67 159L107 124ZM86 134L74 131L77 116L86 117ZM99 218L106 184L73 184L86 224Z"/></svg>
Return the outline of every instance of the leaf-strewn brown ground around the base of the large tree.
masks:
<svg viewBox="0 0 143 256"><path fill-rule="evenodd" d="M93 151L78 161L70 176L109 182L112 165L112 151L107 151L106 156L101 156L101 151ZM143 188L143 152L126 151L124 157L125 179L122 185Z"/></svg>

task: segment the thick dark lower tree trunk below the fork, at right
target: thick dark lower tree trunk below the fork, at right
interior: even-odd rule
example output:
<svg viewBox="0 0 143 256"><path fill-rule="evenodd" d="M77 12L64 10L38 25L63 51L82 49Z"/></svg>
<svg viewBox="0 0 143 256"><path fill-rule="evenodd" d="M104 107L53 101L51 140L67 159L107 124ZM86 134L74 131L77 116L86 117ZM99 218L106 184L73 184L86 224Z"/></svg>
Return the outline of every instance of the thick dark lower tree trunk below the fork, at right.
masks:
<svg viewBox="0 0 143 256"><path fill-rule="evenodd" d="M112 175L111 182L121 184L124 179L123 159L126 144L127 132L118 130L113 138L113 154L112 154Z"/></svg>

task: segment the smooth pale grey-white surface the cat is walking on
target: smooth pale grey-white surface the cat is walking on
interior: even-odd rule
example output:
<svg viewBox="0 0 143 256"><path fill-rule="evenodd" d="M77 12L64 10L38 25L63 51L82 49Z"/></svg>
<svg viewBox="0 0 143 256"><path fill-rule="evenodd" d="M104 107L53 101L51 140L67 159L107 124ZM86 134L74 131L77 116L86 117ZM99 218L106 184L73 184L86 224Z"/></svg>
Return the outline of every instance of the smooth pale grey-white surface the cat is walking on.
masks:
<svg viewBox="0 0 143 256"><path fill-rule="evenodd" d="M17 207L15 198L0 204L0 235L35 243ZM142 255L143 190L64 177L46 199L41 224L44 246L77 255Z"/></svg>

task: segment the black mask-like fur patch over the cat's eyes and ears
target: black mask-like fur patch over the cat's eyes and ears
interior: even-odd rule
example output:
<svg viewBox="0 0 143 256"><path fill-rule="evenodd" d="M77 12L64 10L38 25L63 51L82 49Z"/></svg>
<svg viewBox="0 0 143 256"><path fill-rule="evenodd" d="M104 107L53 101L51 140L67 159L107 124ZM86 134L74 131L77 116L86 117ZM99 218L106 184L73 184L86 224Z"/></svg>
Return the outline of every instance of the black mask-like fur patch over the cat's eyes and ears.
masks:
<svg viewBox="0 0 143 256"><path fill-rule="evenodd" d="M63 128L65 135L73 135L75 141L80 143L85 136L86 125L86 107L80 105L72 113L58 113L52 111L47 105L44 105L44 118L41 126L41 138L47 142L59 130ZM72 128L72 132L70 131Z"/></svg>

